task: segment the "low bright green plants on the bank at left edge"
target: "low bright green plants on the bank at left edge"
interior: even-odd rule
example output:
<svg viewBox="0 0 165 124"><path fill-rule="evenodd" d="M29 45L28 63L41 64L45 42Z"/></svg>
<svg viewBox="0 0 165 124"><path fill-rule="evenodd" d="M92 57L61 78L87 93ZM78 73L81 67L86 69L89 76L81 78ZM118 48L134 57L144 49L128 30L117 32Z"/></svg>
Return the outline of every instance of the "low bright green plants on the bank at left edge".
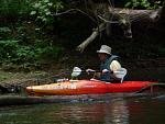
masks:
<svg viewBox="0 0 165 124"><path fill-rule="evenodd" d="M42 41L42 43L44 43ZM63 48L51 44L20 45L19 41L0 41L0 63L3 64L36 64L50 57L56 59Z"/></svg>

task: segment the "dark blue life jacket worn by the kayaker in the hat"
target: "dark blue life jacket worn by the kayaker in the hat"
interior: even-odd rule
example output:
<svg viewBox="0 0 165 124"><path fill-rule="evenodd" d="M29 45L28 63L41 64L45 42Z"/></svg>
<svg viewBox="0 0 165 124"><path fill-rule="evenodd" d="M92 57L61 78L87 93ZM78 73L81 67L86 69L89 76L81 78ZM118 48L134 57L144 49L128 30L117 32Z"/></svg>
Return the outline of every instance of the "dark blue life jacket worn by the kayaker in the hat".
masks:
<svg viewBox="0 0 165 124"><path fill-rule="evenodd" d="M118 59L119 59L119 57L116 56L116 55L111 55L110 57L108 57L106 59L106 61L101 63L101 65L100 65L100 71L102 71L103 69L110 70L110 65L111 65L112 60L118 60ZM107 72L107 74L105 74L105 75L101 75L100 80L102 80L102 81L110 81L110 79L111 79L110 78L110 71Z"/></svg>

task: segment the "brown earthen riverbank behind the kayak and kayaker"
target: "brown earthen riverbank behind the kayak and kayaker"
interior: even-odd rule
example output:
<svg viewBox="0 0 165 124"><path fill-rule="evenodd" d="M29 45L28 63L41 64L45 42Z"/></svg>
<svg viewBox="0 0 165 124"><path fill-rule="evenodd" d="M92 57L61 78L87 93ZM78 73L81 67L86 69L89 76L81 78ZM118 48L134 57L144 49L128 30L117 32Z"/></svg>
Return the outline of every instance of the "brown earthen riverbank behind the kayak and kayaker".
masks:
<svg viewBox="0 0 165 124"><path fill-rule="evenodd" d="M123 60L122 65L128 69L127 80L156 80L165 81L165 58L156 59L133 59ZM25 88L26 86L44 84L55 82L59 78L69 78L72 69L78 66L81 69L99 67L97 57L94 56L74 56L63 57L59 61L54 64L47 64L42 70L32 71L10 71L0 70L0 86L1 88L12 90ZM86 74L82 74L80 78L90 78ZM20 89L19 89L20 90ZM6 91L6 89L4 89ZM2 91L3 92L3 91ZM7 91L8 92L8 91Z"/></svg>

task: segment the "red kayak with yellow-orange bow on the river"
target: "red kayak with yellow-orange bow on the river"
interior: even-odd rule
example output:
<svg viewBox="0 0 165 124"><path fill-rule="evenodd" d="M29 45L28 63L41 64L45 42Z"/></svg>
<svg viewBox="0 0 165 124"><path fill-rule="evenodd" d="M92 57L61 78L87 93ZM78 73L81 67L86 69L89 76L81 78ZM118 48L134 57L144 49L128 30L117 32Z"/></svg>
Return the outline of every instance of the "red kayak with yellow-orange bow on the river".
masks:
<svg viewBox="0 0 165 124"><path fill-rule="evenodd" d="M26 92L34 95L72 95L136 92L157 82L153 81L123 81L105 82L100 80L68 80L51 84L26 87Z"/></svg>

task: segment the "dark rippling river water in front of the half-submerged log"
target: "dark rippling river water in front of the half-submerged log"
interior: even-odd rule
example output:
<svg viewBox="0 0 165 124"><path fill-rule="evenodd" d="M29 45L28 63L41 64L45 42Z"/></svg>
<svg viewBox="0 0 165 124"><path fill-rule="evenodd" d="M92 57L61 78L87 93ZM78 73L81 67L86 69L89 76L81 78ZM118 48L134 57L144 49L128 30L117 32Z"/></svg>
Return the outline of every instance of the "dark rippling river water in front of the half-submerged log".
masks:
<svg viewBox="0 0 165 124"><path fill-rule="evenodd" d="M0 124L165 124L165 95L3 106Z"/></svg>

